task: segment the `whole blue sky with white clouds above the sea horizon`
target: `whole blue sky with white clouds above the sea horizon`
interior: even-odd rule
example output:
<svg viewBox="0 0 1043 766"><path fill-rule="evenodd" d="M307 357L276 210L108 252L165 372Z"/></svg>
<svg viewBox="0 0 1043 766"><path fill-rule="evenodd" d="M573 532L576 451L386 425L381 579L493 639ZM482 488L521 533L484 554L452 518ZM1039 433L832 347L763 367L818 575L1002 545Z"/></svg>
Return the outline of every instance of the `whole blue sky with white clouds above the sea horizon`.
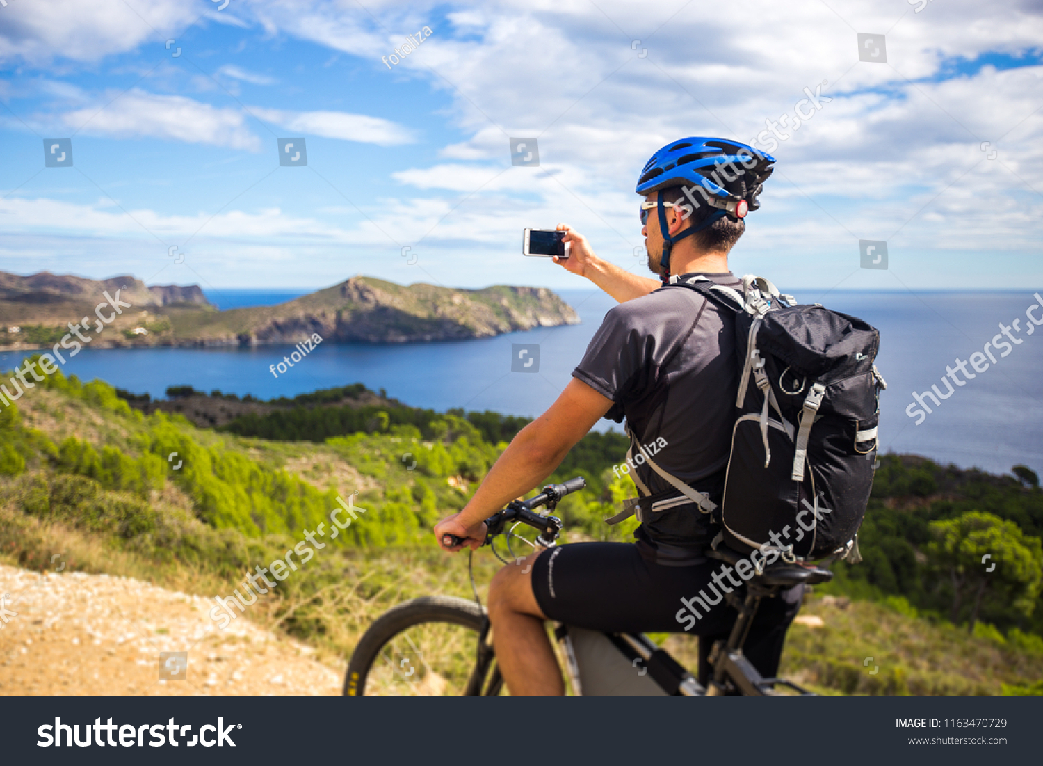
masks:
<svg viewBox="0 0 1043 766"><path fill-rule="evenodd" d="M821 87L832 100L772 149L733 270L791 289L1039 287L1043 14L920 6L8 0L0 269L580 287L520 256L524 226L568 222L644 272L648 157L751 141ZM887 63L859 61L858 32L886 35ZM287 137L307 167L278 165ZM512 166L511 137L538 139L539 167ZM52 138L73 167L44 167ZM888 270L859 267L859 239L888 242Z"/></svg>

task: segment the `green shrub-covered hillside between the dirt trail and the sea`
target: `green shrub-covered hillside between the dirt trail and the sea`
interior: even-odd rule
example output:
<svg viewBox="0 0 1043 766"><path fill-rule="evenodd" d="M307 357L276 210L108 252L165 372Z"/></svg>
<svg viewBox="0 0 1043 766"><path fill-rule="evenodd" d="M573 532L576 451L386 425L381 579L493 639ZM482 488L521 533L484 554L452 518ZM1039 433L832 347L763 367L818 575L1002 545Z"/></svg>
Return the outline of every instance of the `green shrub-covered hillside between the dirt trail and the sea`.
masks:
<svg viewBox="0 0 1043 766"><path fill-rule="evenodd" d="M465 558L439 551L430 528L463 506L524 421L401 406L339 416L340 433L299 440L324 397L300 399L283 413L296 440L269 440L251 435L271 425L257 420L199 429L136 411L105 383L49 378L0 409L0 560L45 571L60 552L74 571L226 594L305 531L331 527L340 498L364 511L324 537L305 576L264 596L251 619L344 655L394 603L467 596ZM629 537L632 520L623 529L602 523L632 493L610 468L620 438L588 436L556 474L590 483L559 507L567 540ZM1043 678L1039 577L1008 562L1038 551L1041 509L1032 476L887 456L860 535L866 561L838 565L836 581L808 599L803 614L822 624L794 626L784 672L833 694L1027 691ZM961 558L961 546L976 555L971 544L1005 551L996 557L1006 579L983 587L975 562ZM498 566L488 551L476 555L480 588ZM953 612L954 581L964 596ZM659 638L693 662L690 637Z"/></svg>

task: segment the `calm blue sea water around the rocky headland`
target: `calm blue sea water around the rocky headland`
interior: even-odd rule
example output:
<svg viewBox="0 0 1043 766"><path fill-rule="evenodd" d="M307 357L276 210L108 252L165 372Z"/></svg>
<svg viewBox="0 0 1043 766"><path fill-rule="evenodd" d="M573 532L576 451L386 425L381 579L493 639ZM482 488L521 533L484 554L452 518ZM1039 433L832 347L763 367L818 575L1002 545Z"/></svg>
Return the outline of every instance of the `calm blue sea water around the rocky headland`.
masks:
<svg viewBox="0 0 1043 766"><path fill-rule="evenodd" d="M165 396L172 385L251 393L260 399L293 397L317 388L364 383L386 389L404 404L445 410L493 410L534 416L567 385L573 368L614 301L599 291L559 290L582 324L537 328L495 338L434 343L334 344L323 342L284 374L270 366L291 345L222 349L91 349L65 365L82 380L100 378L136 393ZM858 316L880 331L877 366L888 381L881 394L883 451L913 452L941 462L993 472L1024 463L1043 472L1043 328L1026 336L1025 309L1032 290L1017 291L796 291L802 303L821 302ZM272 305L293 292L224 290L209 294L221 308ZM1041 312L1043 313L1043 312ZM1037 313L1037 316L1040 316ZM955 390L917 426L906 414L913 392L937 384L946 366L968 360L1020 317L1021 344ZM512 346L536 343L538 363L511 372ZM29 353L0 354L11 369ZM527 359L532 358L530 355ZM284 362L285 364L285 362ZM929 401L929 400L928 400ZM618 428L602 421L599 428Z"/></svg>

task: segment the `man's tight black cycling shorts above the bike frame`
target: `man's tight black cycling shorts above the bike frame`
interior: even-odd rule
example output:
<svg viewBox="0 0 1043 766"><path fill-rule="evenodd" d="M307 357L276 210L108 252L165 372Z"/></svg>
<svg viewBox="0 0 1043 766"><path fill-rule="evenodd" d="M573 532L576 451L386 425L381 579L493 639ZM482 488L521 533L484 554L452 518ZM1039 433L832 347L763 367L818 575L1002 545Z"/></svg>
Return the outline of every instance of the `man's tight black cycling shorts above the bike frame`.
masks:
<svg viewBox="0 0 1043 766"><path fill-rule="evenodd" d="M687 632L701 639L704 676L706 651L717 639L727 638L738 613L722 599L706 613L699 609L695 625L679 622L677 615L681 598L690 603L723 566L714 558L663 566L646 559L632 543L573 543L536 558L532 590L547 618L566 625L605 632L685 632L685 625L690 626ZM765 676L777 674L785 631L803 593L803 585L796 585L760 602L743 653Z"/></svg>

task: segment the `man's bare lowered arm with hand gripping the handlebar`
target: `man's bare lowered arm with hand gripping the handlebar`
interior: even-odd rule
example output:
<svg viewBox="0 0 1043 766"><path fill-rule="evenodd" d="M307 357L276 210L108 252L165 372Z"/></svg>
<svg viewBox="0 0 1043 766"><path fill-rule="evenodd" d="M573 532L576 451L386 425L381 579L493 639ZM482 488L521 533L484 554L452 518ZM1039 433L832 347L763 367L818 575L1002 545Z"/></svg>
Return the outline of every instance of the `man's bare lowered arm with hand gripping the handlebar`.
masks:
<svg viewBox="0 0 1043 766"><path fill-rule="evenodd" d="M464 509L438 522L438 544L448 532L478 548L485 540L482 522L554 473L611 406L612 400L573 378L547 412L518 431Z"/></svg>

